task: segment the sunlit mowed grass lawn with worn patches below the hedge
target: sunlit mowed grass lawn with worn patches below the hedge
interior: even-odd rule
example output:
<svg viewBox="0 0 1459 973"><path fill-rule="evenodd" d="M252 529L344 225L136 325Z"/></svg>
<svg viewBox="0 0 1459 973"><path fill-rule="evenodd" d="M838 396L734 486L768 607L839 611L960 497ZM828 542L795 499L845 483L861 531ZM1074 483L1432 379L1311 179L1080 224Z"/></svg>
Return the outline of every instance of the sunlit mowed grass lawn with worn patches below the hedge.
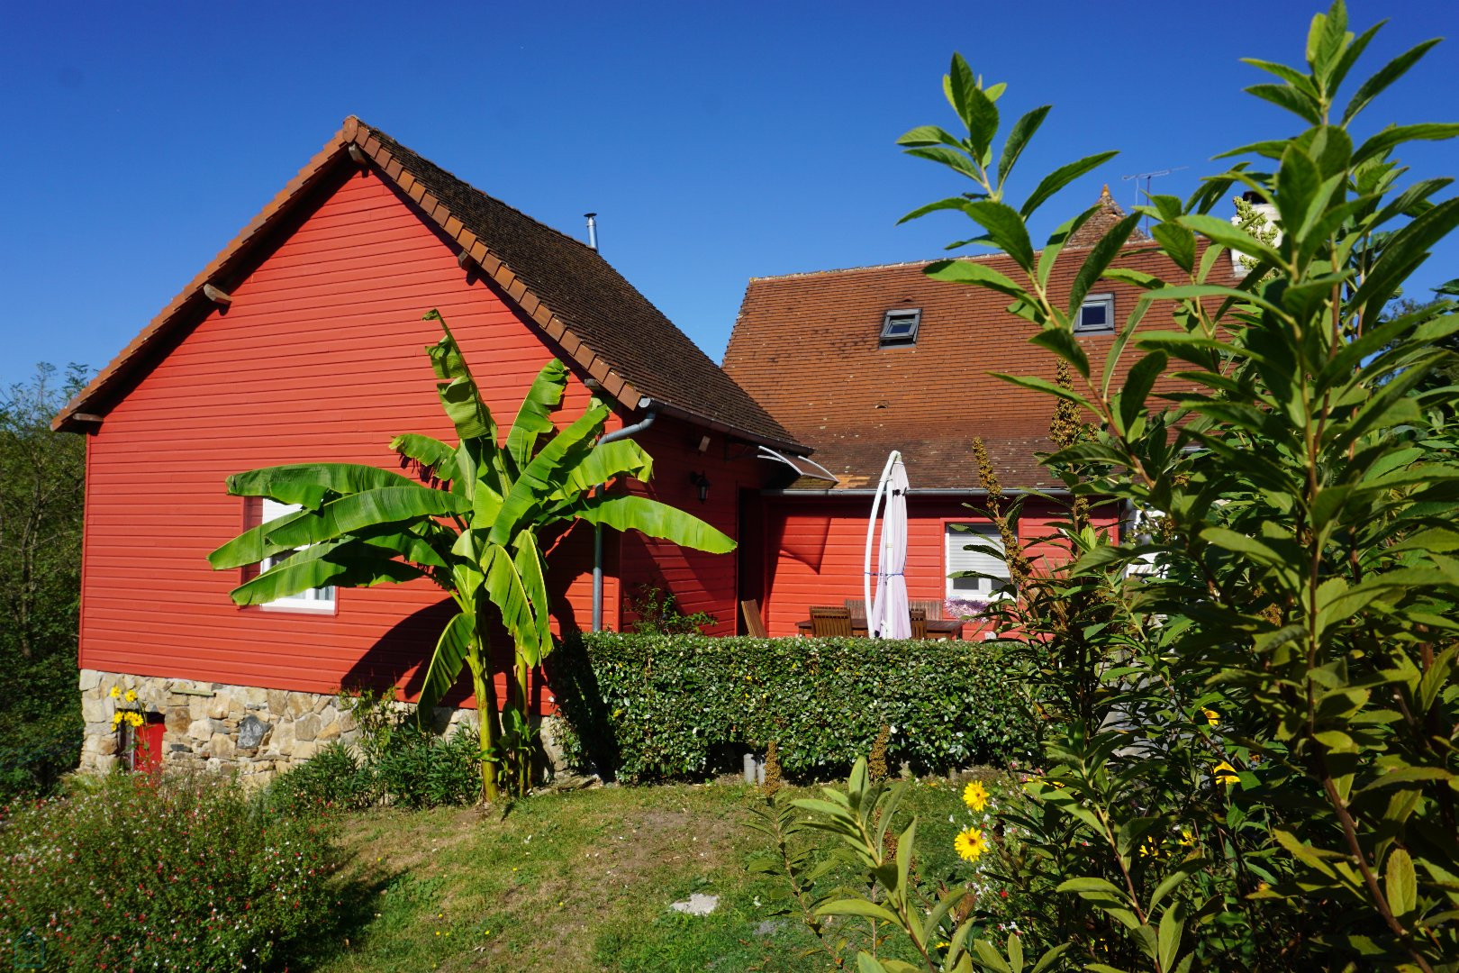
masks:
<svg viewBox="0 0 1459 973"><path fill-rule="evenodd" d="M763 807L753 788L711 783L549 794L505 818L461 808L350 815L340 878L356 920L314 969L833 969L797 915L775 915L783 880L746 868L773 850L744 824L753 804ZM919 818L919 871L951 875L956 788L915 783L903 807ZM692 893L718 896L718 909L670 910Z"/></svg>

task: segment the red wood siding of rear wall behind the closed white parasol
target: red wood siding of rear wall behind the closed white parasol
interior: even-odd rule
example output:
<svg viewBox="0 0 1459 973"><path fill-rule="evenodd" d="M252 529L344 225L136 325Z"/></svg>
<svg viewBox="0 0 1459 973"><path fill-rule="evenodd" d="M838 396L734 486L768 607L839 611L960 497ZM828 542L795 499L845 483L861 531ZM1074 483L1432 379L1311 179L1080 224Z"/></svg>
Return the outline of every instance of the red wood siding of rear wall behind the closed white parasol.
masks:
<svg viewBox="0 0 1459 973"><path fill-rule="evenodd" d="M871 497L767 497L765 616L770 636L795 635L795 624L810 617L811 605L839 605L862 597L867 556L867 518ZM944 598L947 566L944 530L948 521L978 522L956 499L910 497L907 503L909 598ZM1055 511L1030 503L1018 525L1024 543L1048 537ZM1096 521L1109 527L1109 516ZM880 527L878 527L880 535ZM1034 556L1052 554L1036 544ZM748 569L748 566L747 566ZM872 551L875 570L875 551ZM875 586L872 585L872 592ZM979 637L976 626L964 626L963 637Z"/></svg>

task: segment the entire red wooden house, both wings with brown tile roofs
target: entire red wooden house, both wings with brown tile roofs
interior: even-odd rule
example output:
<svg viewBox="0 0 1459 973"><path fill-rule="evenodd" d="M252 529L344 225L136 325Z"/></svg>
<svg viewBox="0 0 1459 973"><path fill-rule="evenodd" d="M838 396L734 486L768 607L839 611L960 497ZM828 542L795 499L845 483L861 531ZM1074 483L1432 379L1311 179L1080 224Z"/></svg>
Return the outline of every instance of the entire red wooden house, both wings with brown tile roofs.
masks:
<svg viewBox="0 0 1459 973"><path fill-rule="evenodd" d="M1106 201L1056 286L1113 219ZM1129 257L1144 268L1160 260ZM810 605L861 592L871 492L890 449L912 480L910 597L986 597L947 578L966 566L966 537L954 544L948 524L976 522L961 506L979 495L970 439L989 443L1007 489L1050 486L1033 458L1048 448L1048 400L986 372L1050 366L1004 299L921 268L751 280L721 369L588 245L346 120L55 420L88 436L82 766L140 753L268 775L355 732L341 686L414 693L446 617L427 582L239 608L228 592L241 576L213 572L206 556L266 513L225 492L232 473L390 467L397 433L454 438L423 353L439 336L420 319L430 308L499 416L562 359L563 420L597 395L613 406L610 429L636 427L655 460L651 483L619 489L740 541L737 554L711 556L608 532L598 559L592 534L575 528L549 553L559 630L623 627L636 588L654 585L686 613L716 616L712 635L744 630L738 602L751 598L770 635L794 635ZM1081 334L1091 354L1134 301L1113 283L1091 296ZM1020 530L1049 515L1030 508ZM550 712L550 687L535 696ZM144 713L134 734L144 747L117 738L125 706Z"/></svg>

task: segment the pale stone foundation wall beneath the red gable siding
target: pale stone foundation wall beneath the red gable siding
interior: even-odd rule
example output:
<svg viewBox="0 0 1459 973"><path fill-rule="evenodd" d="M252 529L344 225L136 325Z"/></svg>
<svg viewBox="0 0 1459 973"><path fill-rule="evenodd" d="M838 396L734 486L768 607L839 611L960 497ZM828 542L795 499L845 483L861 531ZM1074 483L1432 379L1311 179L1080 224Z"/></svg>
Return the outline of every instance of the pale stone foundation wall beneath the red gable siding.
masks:
<svg viewBox="0 0 1459 973"><path fill-rule="evenodd" d="M112 696L112 689L117 694ZM353 744L360 731L333 693L296 693L257 686L231 686L197 680L80 671L82 716L86 740L80 770L101 773L124 761L118 710L136 710L152 722L160 719L162 767L238 773L245 783L266 783L296 766L331 741ZM134 694L134 700L128 700ZM404 706L404 705L403 705ZM543 721L547 770L559 763L553 726ZM451 732L461 724L476 726L474 709L436 709L435 726Z"/></svg>

